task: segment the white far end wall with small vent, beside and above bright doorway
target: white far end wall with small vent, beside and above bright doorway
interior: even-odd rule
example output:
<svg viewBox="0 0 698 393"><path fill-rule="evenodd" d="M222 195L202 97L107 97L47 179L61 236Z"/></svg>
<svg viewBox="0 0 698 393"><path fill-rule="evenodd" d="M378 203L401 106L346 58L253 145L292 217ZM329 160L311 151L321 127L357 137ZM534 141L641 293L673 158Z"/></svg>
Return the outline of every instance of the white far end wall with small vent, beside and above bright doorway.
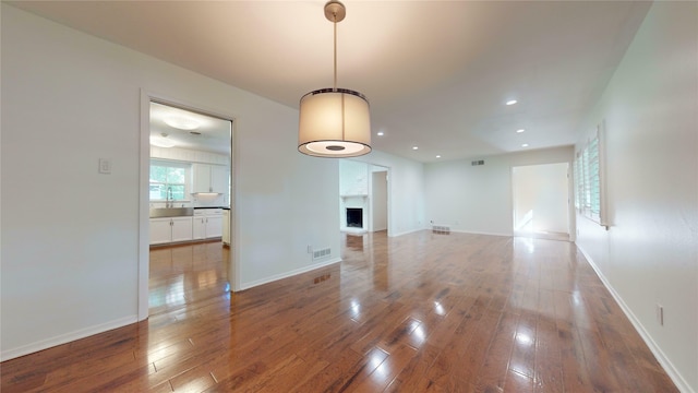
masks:
<svg viewBox="0 0 698 393"><path fill-rule="evenodd" d="M472 166L470 159L424 167L426 219L453 231L510 236L513 234L512 167L571 163L573 147L504 154Z"/></svg>

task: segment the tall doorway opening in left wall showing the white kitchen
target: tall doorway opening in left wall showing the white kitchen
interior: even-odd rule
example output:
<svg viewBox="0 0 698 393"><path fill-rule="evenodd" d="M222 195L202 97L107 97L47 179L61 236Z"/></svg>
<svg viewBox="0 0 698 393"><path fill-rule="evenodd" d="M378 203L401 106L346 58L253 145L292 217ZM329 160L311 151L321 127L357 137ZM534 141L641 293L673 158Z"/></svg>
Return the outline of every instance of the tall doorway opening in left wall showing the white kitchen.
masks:
<svg viewBox="0 0 698 393"><path fill-rule="evenodd" d="M202 296L229 296L236 267L233 120L143 100L141 177L148 181L141 184L139 320Z"/></svg>

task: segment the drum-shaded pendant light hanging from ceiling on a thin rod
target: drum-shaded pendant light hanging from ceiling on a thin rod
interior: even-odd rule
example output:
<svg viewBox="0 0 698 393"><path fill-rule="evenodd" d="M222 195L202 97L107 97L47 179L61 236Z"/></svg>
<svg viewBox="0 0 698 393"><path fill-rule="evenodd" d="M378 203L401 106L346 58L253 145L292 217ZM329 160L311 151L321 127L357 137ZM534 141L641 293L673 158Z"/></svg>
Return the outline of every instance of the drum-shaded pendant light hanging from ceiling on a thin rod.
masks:
<svg viewBox="0 0 698 393"><path fill-rule="evenodd" d="M337 23L347 15L336 0L325 4L325 17L335 28L335 80L301 97L298 150L315 157L357 157L371 152L369 100L359 93L337 88Z"/></svg>

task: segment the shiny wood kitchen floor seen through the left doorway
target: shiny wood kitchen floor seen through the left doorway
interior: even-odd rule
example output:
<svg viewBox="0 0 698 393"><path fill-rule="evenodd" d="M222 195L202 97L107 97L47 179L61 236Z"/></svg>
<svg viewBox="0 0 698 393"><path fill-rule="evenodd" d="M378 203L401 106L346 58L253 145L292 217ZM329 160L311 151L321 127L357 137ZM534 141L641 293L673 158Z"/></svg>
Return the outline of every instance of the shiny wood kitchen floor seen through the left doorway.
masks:
<svg viewBox="0 0 698 393"><path fill-rule="evenodd" d="M229 248L220 241L151 249L151 315L184 308L188 302L227 294Z"/></svg>

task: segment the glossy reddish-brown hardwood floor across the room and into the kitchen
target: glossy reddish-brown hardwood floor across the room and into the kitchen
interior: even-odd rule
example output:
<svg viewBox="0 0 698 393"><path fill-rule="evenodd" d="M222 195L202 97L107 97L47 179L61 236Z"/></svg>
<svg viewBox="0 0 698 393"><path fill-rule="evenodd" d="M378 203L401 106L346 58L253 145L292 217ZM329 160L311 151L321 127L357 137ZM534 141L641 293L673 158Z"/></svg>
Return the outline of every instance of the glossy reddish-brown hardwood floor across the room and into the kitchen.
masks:
<svg viewBox="0 0 698 393"><path fill-rule="evenodd" d="M676 392L575 245L344 235L226 289L219 242L151 252L147 321L1 364L2 392Z"/></svg>

